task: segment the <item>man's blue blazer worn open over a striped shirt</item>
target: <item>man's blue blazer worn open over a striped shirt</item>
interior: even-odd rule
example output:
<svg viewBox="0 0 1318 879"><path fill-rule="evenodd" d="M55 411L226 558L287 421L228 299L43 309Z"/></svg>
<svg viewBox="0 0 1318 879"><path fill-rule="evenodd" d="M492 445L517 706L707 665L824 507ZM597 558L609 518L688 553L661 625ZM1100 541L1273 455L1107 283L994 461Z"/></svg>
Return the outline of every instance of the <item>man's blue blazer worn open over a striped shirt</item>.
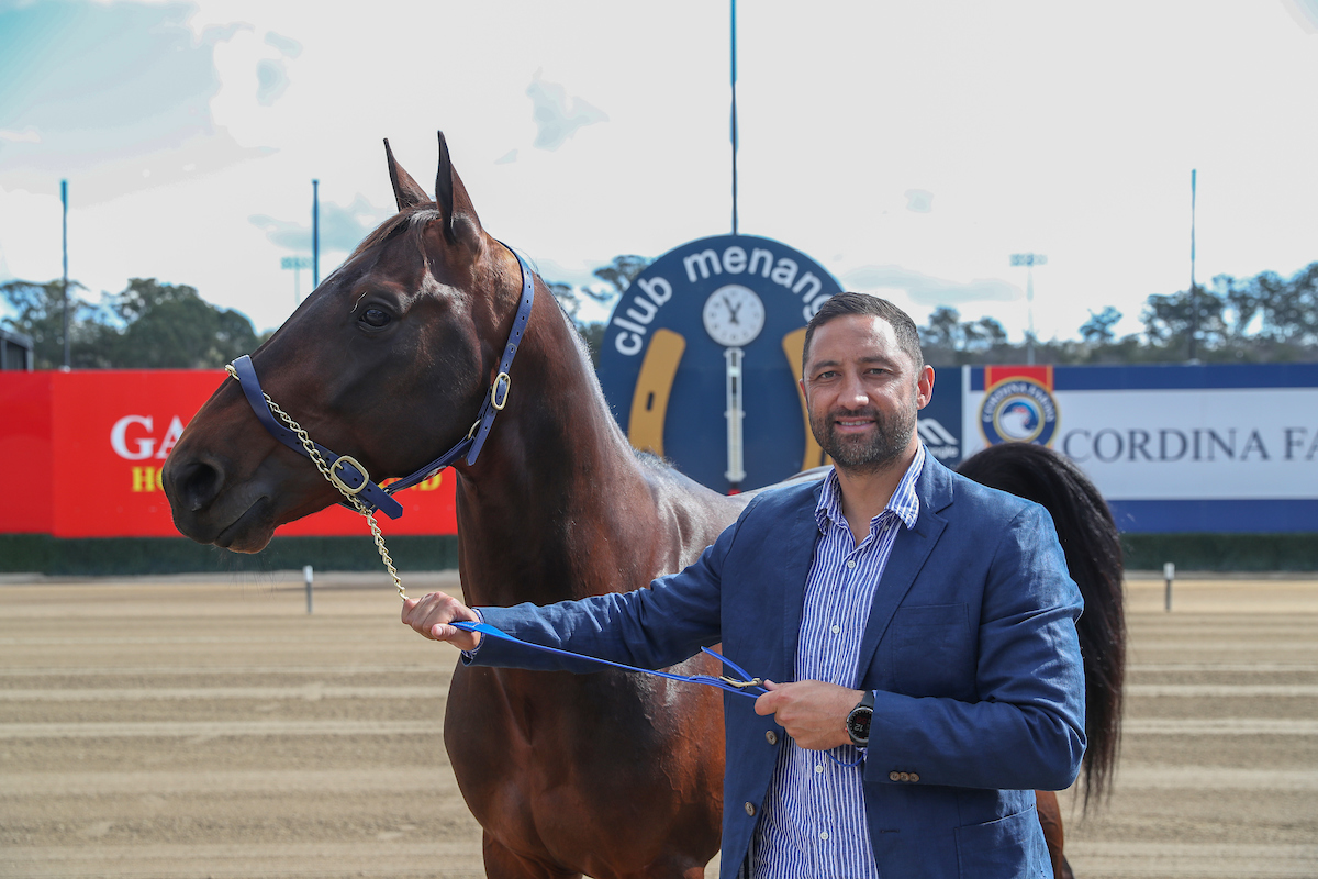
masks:
<svg viewBox="0 0 1318 879"><path fill-rule="evenodd" d="M648 668L722 642L750 673L793 680L820 488L764 492L650 589L481 613L523 640ZM916 490L920 515L896 536L861 642L861 687L878 691L863 787L879 874L1050 876L1035 789L1069 787L1085 752L1079 590L1041 506L932 455ZM583 671L497 639L474 662ZM749 698L724 709L721 875L733 876L782 747L771 741L786 735Z"/></svg>

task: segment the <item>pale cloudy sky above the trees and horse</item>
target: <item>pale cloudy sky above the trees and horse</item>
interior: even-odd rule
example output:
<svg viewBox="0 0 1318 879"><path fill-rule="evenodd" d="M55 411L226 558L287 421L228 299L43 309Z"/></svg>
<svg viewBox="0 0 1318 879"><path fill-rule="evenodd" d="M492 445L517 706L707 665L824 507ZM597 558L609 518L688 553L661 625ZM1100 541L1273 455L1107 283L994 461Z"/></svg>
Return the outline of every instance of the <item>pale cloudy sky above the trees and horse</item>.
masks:
<svg viewBox="0 0 1318 879"><path fill-rule="evenodd" d="M432 187L548 281L731 231L718 0L0 0L0 282L186 283L279 326ZM739 232L917 323L1074 339L1318 260L1318 0L741 0ZM1037 253L1033 300L1014 253ZM598 315L604 316L604 315Z"/></svg>

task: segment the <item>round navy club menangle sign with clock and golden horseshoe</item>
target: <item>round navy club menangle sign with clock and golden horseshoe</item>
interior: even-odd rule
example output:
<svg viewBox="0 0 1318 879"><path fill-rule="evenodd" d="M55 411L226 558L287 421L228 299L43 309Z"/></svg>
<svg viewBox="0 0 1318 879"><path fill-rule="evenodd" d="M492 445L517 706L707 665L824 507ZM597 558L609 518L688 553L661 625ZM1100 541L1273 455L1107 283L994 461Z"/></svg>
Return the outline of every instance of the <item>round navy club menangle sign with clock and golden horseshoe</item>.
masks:
<svg viewBox="0 0 1318 879"><path fill-rule="evenodd" d="M840 291L770 239L700 239L655 260L600 351L600 383L631 444L721 492L821 464L796 380L805 324Z"/></svg>

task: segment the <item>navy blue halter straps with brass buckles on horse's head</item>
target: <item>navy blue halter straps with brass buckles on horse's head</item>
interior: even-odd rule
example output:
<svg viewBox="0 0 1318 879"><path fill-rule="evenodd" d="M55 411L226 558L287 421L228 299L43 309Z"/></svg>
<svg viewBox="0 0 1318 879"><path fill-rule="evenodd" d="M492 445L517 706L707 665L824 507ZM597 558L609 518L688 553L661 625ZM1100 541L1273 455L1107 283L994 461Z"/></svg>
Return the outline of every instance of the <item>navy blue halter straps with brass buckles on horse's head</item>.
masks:
<svg viewBox="0 0 1318 879"><path fill-rule="evenodd" d="M500 241L500 244L503 244ZM430 464L422 467L419 470L405 476L403 478L390 482L387 488L377 485L370 480L366 473L366 468L358 464L355 459L347 455L336 455L331 452L324 445L312 441L306 436L306 431L295 431L285 424L281 424L275 419L274 412L279 412L285 420L290 424L297 426L287 415L283 414L274 402L266 397L261 390L261 382L256 377L256 368L252 365L252 358L248 354L243 354L229 365L229 374L237 380L239 386L243 389L243 395L246 397L248 405L252 406L252 411L256 414L257 420L265 427L269 434L298 452L303 457L315 460L311 452L307 449L307 444L312 445L324 463L328 467L328 473L326 478L333 482L344 496L355 498L358 503L366 507L366 513L373 513L380 510L390 519L397 519L403 514L402 505L393 498L395 492L402 492L403 489L410 489L418 482L423 482L439 473L445 467L449 467L456 461L463 453L467 455L467 463L474 464L477 456L481 453L481 448L485 445L485 439L489 436L490 428L494 426L494 418L503 411L503 406L507 405L507 394L513 386L513 378L510 370L513 368L513 358L517 356L517 347L522 341L522 335L526 332L526 323L531 318L531 306L535 303L535 275L531 273L531 268L526 265L526 260L522 254L509 248L509 253L517 257L517 264L522 271L522 300L517 307L517 316L513 319L513 329L507 336L507 345L503 347L503 356L500 358L498 373L494 376L494 381L490 383L490 390L485 394L485 402L481 403L481 410L476 416L476 423L472 424L472 430L467 431L467 436L457 440L457 443L449 448L447 452L436 457ZM273 411L272 411L273 409ZM306 443L303 441L306 438ZM347 499L340 501L344 506L349 505Z"/></svg>

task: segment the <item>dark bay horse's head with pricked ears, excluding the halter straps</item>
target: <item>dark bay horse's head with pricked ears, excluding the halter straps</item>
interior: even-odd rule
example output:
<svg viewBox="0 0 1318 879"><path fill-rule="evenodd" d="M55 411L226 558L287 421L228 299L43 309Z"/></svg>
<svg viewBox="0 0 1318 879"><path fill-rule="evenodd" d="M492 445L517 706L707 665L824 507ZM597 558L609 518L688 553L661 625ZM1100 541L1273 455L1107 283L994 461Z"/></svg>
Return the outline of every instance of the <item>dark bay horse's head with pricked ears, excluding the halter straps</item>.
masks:
<svg viewBox="0 0 1318 879"><path fill-rule="evenodd" d="M398 213L252 354L265 393L377 481L468 432L521 294L518 261L481 229L443 133L434 200L387 141L385 153ZM341 499L260 426L236 381L188 423L163 482L179 531L241 552Z"/></svg>

